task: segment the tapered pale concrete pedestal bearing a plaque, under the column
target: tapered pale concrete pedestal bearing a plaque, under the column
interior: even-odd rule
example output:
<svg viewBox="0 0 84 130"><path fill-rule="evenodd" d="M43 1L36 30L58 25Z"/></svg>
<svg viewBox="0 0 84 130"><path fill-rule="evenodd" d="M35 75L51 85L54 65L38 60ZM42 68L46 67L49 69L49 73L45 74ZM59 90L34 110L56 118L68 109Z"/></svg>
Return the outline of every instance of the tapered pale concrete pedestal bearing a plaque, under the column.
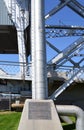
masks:
<svg viewBox="0 0 84 130"><path fill-rule="evenodd" d="M63 130L53 101L27 99L18 130Z"/></svg>

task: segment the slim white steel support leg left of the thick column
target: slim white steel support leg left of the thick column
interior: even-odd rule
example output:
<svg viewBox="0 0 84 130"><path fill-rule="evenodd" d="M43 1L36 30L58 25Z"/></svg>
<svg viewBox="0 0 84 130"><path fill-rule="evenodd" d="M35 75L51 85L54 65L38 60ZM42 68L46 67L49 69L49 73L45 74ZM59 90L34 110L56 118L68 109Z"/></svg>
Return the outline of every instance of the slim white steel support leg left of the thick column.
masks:
<svg viewBox="0 0 84 130"><path fill-rule="evenodd" d="M25 40L24 40L24 10L20 10L20 28L17 29L18 36L18 51L19 51L19 61L20 61L20 74L22 78L25 77L26 74L26 64L27 64L27 56L26 56L26 48L25 48Z"/></svg>

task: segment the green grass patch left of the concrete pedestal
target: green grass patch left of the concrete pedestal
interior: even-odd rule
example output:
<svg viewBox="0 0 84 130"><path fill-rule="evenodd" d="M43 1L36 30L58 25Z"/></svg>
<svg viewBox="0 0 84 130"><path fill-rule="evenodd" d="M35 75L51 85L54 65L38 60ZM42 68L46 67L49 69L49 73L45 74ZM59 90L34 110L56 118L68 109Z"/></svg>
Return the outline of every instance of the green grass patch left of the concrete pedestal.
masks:
<svg viewBox="0 0 84 130"><path fill-rule="evenodd" d="M0 113L0 130L18 130L20 112Z"/></svg>

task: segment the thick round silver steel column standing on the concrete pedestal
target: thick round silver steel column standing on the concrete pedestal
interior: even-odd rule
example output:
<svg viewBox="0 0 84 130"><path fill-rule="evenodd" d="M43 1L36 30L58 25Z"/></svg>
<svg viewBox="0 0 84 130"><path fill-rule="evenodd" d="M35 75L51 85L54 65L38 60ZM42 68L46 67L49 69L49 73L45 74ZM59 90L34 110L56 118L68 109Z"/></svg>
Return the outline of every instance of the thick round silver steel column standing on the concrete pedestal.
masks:
<svg viewBox="0 0 84 130"><path fill-rule="evenodd" d="M46 70L46 44L45 44L45 23L44 23L44 0L32 0L34 17L31 19L34 26L34 62L33 70L35 79L35 98L47 98L47 70ZM31 6L32 7L32 6ZM32 43L33 44L33 43ZM33 57L32 57L33 58Z"/></svg>

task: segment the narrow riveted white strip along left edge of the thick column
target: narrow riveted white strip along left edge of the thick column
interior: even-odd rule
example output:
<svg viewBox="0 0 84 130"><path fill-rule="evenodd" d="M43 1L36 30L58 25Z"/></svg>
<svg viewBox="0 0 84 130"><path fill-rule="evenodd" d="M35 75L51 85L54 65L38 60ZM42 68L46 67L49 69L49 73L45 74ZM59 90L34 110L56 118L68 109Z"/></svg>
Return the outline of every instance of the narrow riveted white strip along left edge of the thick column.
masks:
<svg viewBox="0 0 84 130"><path fill-rule="evenodd" d="M35 0L31 0L32 99L35 99Z"/></svg>

